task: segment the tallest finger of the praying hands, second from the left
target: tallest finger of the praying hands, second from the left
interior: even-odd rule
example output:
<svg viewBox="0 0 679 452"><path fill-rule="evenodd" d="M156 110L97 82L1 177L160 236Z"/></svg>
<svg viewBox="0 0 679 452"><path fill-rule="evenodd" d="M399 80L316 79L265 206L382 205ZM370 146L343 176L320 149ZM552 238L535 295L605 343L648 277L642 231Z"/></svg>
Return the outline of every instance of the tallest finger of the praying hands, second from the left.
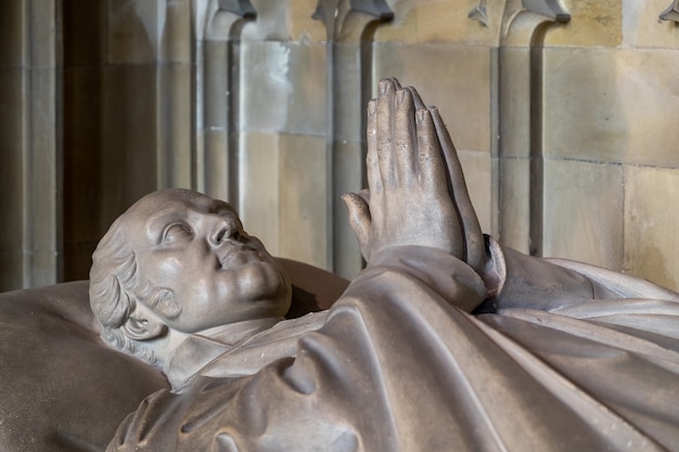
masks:
<svg viewBox="0 0 679 452"><path fill-rule="evenodd" d="M392 79L379 85L376 111L376 154L380 176L384 186L394 185L398 179L394 167L393 120L396 86Z"/></svg>

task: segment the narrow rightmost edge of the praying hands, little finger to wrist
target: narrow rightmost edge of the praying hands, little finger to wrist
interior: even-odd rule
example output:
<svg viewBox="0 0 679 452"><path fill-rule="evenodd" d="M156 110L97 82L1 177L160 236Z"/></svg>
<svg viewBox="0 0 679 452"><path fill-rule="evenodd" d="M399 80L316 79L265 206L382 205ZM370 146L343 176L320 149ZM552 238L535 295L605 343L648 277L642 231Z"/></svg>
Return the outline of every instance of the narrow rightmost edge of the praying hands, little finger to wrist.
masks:
<svg viewBox="0 0 679 452"><path fill-rule="evenodd" d="M436 133L440 142L444 159L448 168L448 186L450 195L458 207L460 215L460 223L462 224L462 231L464 231L465 241L465 261L477 272L484 270L486 263L486 246L484 242L484 234L476 217L474 206L470 199L469 192L466 190L466 183L464 182L464 173L462 172L462 166L458 158L458 153L452 144L448 129L444 124L438 108L430 108L434 126L436 127Z"/></svg>

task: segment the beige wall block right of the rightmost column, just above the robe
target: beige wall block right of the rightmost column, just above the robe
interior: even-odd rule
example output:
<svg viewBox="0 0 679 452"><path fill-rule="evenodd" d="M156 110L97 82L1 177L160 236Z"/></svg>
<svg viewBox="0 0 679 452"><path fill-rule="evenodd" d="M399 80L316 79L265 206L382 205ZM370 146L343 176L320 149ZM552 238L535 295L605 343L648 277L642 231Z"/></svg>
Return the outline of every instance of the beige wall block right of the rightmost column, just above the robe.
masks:
<svg viewBox="0 0 679 452"><path fill-rule="evenodd" d="M622 165L545 162L543 256L622 270Z"/></svg>

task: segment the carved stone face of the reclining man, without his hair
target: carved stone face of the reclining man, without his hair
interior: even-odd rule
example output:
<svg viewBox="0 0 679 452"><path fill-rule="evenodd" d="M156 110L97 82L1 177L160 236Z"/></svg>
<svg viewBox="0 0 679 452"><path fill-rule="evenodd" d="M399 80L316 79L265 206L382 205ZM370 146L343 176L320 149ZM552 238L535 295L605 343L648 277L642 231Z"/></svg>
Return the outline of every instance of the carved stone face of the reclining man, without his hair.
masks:
<svg viewBox="0 0 679 452"><path fill-rule="evenodd" d="M164 190L125 216L140 281L172 290L181 309L168 318L151 307L168 326L196 333L287 311L287 276L243 230L231 205L188 190Z"/></svg>

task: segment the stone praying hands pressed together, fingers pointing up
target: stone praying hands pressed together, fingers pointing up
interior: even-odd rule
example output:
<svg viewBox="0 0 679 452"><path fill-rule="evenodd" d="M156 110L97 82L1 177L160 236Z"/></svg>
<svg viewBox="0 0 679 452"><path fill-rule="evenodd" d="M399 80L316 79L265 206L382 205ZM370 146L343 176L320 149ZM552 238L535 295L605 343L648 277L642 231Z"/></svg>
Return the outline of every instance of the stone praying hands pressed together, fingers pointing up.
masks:
<svg viewBox="0 0 679 452"><path fill-rule="evenodd" d="M437 109L385 79L368 104L367 126L368 190L344 201L368 264L386 248L418 245L482 270L483 235Z"/></svg>

